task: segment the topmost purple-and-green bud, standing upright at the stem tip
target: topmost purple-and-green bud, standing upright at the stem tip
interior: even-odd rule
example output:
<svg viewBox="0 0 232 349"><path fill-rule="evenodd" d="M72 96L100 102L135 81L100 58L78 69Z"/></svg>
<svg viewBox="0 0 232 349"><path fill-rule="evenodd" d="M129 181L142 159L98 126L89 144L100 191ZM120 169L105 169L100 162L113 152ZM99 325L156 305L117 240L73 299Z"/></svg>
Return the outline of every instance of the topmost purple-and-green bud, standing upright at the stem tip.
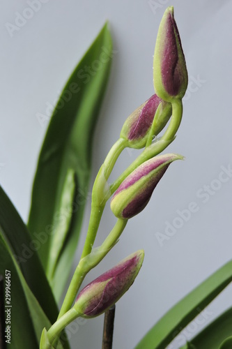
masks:
<svg viewBox="0 0 232 349"><path fill-rule="evenodd" d="M183 98L187 89L187 68L180 35L173 16L173 6L167 8L160 22L153 62L154 87L157 96L169 101Z"/></svg>

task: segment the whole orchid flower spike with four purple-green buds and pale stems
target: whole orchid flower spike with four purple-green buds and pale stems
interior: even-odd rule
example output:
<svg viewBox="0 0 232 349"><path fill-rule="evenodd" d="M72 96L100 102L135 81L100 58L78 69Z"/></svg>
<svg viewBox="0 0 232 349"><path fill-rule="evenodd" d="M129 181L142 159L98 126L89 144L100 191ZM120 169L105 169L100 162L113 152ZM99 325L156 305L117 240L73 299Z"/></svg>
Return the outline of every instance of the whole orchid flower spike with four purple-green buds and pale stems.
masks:
<svg viewBox="0 0 232 349"><path fill-rule="evenodd" d="M81 275L79 276L81 281L84 279L86 272L97 265L116 244L127 220L139 214L146 207L155 187L169 165L173 161L183 158L178 154L157 156L176 136L183 112L181 100L187 89L185 56L173 17L173 7L167 8L160 23L155 45L153 79L155 94L127 118L121 130L120 139L109 151L105 163L95 179L92 195L92 209L95 211L91 212L86 243L82 258L76 269L77 274ZM169 119L171 119L170 122ZM167 126L167 130L162 138L153 142L153 139L165 126ZM107 179L112 168L114 168L118 155L124 149L123 147L134 149L145 147L145 150L118 177L114 184L109 186ZM94 254L92 246L98 231L102 211L105 202L112 194L114 195L111 199L111 211L118 218L119 224L116 223L116 228L114 227L105 242L95 250L96 253ZM43 332L42 341L46 343L45 346L40 346L40 348L50 348L50 343L52 343L55 336L78 315L84 318L93 318L104 313L115 304L134 282L143 260L144 251L137 251L125 258L116 267L86 285L79 293L75 305L70 309L75 299L72 290L78 290L81 284L80 282L77 287L77 276L75 275L71 282L72 285L70 284L70 293L68 290L66 295L68 301L61 308L60 315L64 315L48 332ZM82 270L82 264L85 266L84 270ZM69 314L70 318L68 318Z"/></svg>

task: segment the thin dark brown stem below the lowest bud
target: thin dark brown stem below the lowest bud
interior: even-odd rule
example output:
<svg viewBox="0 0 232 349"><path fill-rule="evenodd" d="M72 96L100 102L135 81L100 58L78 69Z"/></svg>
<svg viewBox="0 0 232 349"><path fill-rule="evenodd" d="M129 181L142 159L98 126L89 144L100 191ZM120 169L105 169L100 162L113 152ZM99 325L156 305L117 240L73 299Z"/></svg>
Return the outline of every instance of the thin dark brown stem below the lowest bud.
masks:
<svg viewBox="0 0 232 349"><path fill-rule="evenodd" d="M102 349L111 349L114 333L115 304L105 312Z"/></svg>

